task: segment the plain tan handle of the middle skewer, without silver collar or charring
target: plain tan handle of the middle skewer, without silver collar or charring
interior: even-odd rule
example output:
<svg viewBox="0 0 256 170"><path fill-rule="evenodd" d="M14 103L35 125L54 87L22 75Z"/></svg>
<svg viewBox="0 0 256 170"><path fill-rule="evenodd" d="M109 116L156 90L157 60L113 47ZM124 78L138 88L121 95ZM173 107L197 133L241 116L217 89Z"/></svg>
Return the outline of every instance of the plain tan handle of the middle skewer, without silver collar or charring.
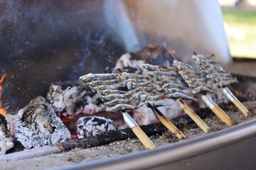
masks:
<svg viewBox="0 0 256 170"><path fill-rule="evenodd" d="M181 104L181 109L191 117L191 119L203 130L203 132L208 132L210 128L203 120L191 109L189 108L186 103L182 101L181 98L178 98L178 101Z"/></svg>

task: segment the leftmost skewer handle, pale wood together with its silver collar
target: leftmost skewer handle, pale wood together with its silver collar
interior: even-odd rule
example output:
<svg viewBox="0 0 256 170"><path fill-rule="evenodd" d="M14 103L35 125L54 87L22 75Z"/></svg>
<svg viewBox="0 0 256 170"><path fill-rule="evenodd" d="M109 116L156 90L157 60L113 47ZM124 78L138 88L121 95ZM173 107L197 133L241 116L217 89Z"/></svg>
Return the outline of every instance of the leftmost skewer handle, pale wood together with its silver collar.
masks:
<svg viewBox="0 0 256 170"><path fill-rule="evenodd" d="M149 137L143 132L141 128L139 128L138 123L135 122L135 120L128 114L128 113L122 113L124 117L124 122L127 123L129 128L132 129L132 132L139 138L140 142L144 145L144 147L148 149L154 149L156 145L149 139Z"/></svg>

